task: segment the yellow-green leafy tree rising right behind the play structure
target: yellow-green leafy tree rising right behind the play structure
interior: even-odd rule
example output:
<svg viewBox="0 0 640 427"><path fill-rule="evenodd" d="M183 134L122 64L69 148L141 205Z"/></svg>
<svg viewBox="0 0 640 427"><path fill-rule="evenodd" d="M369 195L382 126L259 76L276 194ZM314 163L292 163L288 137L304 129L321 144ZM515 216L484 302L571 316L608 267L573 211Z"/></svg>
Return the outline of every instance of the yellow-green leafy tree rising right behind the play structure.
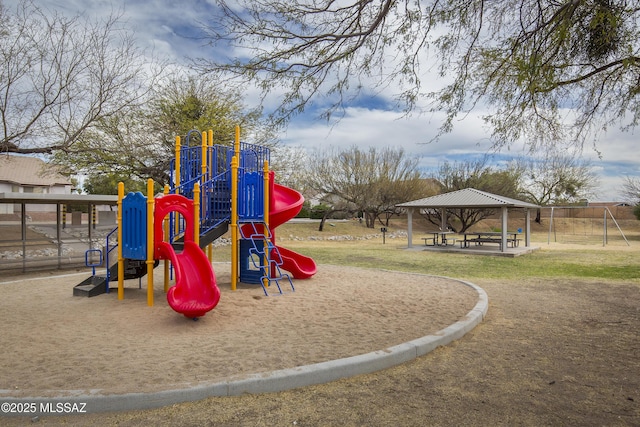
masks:
<svg viewBox="0 0 640 427"><path fill-rule="evenodd" d="M247 110L240 92L193 75L171 74L158 82L144 106L100 120L56 161L91 177L115 174L163 185L169 183L176 136L183 145L200 145L201 131L212 129L214 143L230 145L236 125L255 138L251 142L274 144L259 110Z"/></svg>

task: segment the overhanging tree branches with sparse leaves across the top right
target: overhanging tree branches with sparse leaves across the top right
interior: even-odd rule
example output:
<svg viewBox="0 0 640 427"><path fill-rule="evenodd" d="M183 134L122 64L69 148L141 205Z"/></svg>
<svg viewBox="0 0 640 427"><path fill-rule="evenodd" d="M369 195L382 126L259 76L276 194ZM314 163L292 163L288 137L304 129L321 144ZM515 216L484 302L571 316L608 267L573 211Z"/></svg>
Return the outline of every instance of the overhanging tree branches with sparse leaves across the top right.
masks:
<svg viewBox="0 0 640 427"><path fill-rule="evenodd" d="M398 87L454 119L487 105L495 147L528 138L582 147L592 132L640 119L640 5L627 0L217 0L205 30L238 57L205 72L284 91L284 120L315 98L330 117L360 93ZM434 67L434 63L436 66ZM426 87L437 70L444 86Z"/></svg>

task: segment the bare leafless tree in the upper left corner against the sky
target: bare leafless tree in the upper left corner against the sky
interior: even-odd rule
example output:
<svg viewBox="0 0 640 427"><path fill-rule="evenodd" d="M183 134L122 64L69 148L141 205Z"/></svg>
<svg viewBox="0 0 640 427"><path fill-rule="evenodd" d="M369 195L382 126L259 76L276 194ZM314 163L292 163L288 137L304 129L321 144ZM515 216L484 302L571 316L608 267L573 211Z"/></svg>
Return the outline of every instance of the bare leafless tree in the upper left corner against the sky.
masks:
<svg viewBox="0 0 640 427"><path fill-rule="evenodd" d="M68 153L102 121L145 100L155 66L121 28L0 3L0 151Z"/></svg>

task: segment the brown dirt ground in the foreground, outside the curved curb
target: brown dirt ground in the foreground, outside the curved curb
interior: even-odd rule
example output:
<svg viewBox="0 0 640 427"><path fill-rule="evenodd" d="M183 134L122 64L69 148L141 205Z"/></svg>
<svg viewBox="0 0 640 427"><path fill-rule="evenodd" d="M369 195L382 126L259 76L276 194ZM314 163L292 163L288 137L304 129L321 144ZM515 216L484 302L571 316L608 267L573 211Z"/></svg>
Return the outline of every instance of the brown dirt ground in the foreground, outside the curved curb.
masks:
<svg viewBox="0 0 640 427"><path fill-rule="evenodd" d="M485 321L381 372L157 410L46 416L74 426L638 426L640 283L476 280ZM25 425L29 418L2 419Z"/></svg>

